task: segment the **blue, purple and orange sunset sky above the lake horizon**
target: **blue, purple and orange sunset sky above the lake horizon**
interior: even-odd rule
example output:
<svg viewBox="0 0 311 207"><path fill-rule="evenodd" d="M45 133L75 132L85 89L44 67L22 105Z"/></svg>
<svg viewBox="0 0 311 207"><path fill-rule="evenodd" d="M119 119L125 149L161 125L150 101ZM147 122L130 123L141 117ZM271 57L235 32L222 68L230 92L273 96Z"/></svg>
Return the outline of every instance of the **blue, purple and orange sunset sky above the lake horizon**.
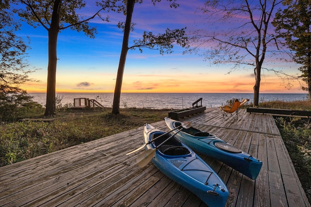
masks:
<svg viewBox="0 0 311 207"><path fill-rule="evenodd" d="M87 1L89 3L89 1ZM143 31L158 34L167 28L187 31L211 29L206 16L200 13L204 0L179 0L177 9L170 8L162 0L153 6L150 0L135 4L132 22L135 30L130 33L129 46ZM92 16L93 5L86 4L82 11ZM57 93L113 93L117 77L123 33L117 28L125 16L110 13L110 22L96 18L90 21L96 26L94 39L83 32L70 29L58 35L57 42ZM32 92L46 92L48 67L48 32L42 27L33 28L23 23L19 36L31 40L28 50L29 63L40 70L30 78L40 82L26 82L22 89ZM199 54L183 54L184 48L174 47L172 54L160 55L157 50L129 50L124 68L121 93L253 93L255 77L253 67L231 72L230 65L214 65ZM267 63L269 64L269 63ZM276 64L276 63L273 63ZM265 65L268 66L268 65ZM279 63L278 68L295 75L295 64ZM304 93L297 81L288 90L273 72L262 71L260 93Z"/></svg>

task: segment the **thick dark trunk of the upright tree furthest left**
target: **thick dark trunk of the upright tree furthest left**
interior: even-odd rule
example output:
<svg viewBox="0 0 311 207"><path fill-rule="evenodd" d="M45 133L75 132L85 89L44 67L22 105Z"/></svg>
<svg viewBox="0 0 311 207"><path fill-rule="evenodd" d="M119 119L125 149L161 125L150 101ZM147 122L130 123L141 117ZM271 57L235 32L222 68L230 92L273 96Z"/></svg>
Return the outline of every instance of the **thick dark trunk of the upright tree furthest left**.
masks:
<svg viewBox="0 0 311 207"><path fill-rule="evenodd" d="M55 114L55 88L56 88L56 65L57 65L57 37L59 32L59 14L62 0L55 0L51 27L49 32L49 64L48 64L48 82L47 82L47 102L45 116Z"/></svg>

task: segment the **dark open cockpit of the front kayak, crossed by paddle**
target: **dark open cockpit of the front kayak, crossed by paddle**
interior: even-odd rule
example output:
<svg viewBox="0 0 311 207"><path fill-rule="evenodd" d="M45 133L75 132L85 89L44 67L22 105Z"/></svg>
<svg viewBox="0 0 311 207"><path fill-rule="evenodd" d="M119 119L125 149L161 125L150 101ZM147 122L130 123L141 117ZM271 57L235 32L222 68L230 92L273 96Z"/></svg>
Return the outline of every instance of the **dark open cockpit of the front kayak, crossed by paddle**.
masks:
<svg viewBox="0 0 311 207"><path fill-rule="evenodd" d="M153 133L151 138L155 139L156 137L159 137L163 133ZM162 135L161 138L156 139L153 143L155 147L163 143L165 140L167 140L171 135L165 134ZM158 150L164 154L164 155L170 155L170 156L180 156L180 155L189 155L191 154L190 150L181 144L181 142L176 139L175 137L172 137L167 142L162 144L160 147L158 147Z"/></svg>

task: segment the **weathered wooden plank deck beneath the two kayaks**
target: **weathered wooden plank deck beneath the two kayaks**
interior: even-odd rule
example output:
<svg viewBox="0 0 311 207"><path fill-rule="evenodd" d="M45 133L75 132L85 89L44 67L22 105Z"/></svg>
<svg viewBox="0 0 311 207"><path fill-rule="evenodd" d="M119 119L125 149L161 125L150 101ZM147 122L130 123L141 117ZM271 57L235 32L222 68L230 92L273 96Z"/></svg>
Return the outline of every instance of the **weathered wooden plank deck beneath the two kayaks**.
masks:
<svg viewBox="0 0 311 207"><path fill-rule="evenodd" d="M219 108L189 120L262 160L256 180L201 156L229 190L227 207L310 207L271 115L239 111L224 121ZM167 130L164 121L154 127ZM0 206L205 207L150 162L139 168L143 126L0 168Z"/></svg>

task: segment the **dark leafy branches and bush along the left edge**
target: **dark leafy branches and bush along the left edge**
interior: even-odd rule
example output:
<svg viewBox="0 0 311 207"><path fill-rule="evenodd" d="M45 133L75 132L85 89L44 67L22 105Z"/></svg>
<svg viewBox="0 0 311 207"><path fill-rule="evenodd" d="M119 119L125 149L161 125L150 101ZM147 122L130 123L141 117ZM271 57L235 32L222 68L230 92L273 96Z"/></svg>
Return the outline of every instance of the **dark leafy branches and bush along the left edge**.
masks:
<svg viewBox="0 0 311 207"><path fill-rule="evenodd" d="M0 122L16 121L25 111L30 111L37 104L32 97L18 87L25 81L32 81L29 74L36 69L30 69L26 57L28 46L15 32L19 23L13 20L10 3L0 2Z"/></svg>

